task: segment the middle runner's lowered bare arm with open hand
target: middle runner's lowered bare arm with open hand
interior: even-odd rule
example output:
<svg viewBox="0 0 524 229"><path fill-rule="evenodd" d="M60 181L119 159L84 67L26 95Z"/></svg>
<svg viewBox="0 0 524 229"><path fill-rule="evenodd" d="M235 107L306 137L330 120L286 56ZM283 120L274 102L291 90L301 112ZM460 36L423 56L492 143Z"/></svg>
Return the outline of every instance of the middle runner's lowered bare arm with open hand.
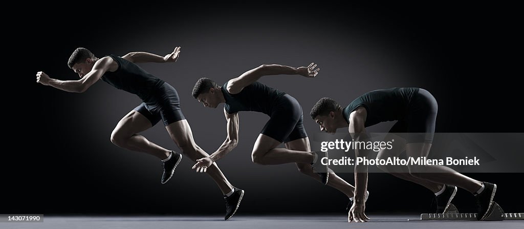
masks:
<svg viewBox="0 0 524 229"><path fill-rule="evenodd" d="M211 166L211 164L214 161L217 161L224 157L228 152L233 150L236 145L238 144L238 112L234 114L229 114L224 109L224 115L226 117L227 121L227 137L224 140L224 143L217 149L213 154L211 154L209 157L204 157L201 159L196 160L197 163L192 167L192 169L196 168L196 171L198 172L202 168L208 168ZM200 169L199 169L200 167Z"/></svg>

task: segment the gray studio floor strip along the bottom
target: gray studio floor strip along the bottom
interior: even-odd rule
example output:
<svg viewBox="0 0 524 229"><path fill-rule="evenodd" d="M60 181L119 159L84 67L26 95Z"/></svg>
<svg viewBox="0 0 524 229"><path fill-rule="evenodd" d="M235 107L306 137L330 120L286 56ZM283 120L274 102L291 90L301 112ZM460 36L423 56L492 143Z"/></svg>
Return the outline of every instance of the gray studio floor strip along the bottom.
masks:
<svg viewBox="0 0 524 229"><path fill-rule="evenodd" d="M373 220L367 223L348 223L344 215L286 215L286 216L234 216L223 221L221 216L45 216L42 223L0 223L0 228L524 228L524 221L408 221L417 219L417 215L368 215ZM223 217L223 216L222 216Z"/></svg>

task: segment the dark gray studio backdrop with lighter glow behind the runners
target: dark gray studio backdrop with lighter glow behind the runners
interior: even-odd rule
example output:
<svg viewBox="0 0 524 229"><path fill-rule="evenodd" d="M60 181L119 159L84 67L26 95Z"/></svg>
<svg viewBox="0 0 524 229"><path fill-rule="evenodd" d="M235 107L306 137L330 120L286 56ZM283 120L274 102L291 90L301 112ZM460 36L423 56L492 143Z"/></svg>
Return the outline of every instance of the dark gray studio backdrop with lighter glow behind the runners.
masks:
<svg viewBox="0 0 524 229"><path fill-rule="evenodd" d="M23 45L21 76L27 90L12 96L19 109L7 125L21 150L3 160L2 213L206 214L224 211L222 195L205 175L183 160L168 184L159 182L159 161L111 144L116 123L140 103L138 97L99 82L83 94L35 83L37 71L77 79L67 67L71 52L86 47L96 56L130 51L167 54L181 46L177 63L141 64L179 92L196 142L212 153L225 138L222 106L203 107L191 97L200 77L224 82L263 63L319 64L317 78L270 76L260 81L301 103L310 135L313 104L330 96L341 104L370 90L417 86L439 102L437 132L522 132L521 86L514 58L521 39L512 6L355 5L332 3L93 3L57 9L32 5L31 23L19 25L31 39ZM20 41L19 41L20 42ZM6 45L16 48L15 45ZM517 65L519 64L519 65ZM14 72L20 77L20 71ZM14 74L13 73L13 74ZM9 87L9 86L7 86ZM9 90L7 88L6 90ZM241 113L240 143L220 167L246 190L242 213L343 212L347 198L297 172L293 165L259 166L250 159L268 117ZM370 128L386 132L391 123ZM144 133L176 149L165 128ZM20 143L21 142L21 143ZM10 157L7 157L10 156ZM353 175L341 175L353 183ZM511 197L521 193L521 173L471 174L499 185L497 201L507 212L522 210ZM511 177L509 177L511 176ZM369 176L369 212L428 212L433 194L386 174ZM474 211L474 198L460 190L455 203Z"/></svg>

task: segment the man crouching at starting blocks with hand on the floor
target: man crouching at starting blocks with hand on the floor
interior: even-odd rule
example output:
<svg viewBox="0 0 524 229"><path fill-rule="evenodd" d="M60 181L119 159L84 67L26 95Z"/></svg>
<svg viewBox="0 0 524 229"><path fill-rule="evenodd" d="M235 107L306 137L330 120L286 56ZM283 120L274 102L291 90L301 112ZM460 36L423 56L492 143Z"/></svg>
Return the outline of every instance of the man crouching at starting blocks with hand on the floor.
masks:
<svg viewBox="0 0 524 229"><path fill-rule="evenodd" d="M406 151L407 157L427 157L433 135L438 106L428 91L419 88L392 88L365 93L341 107L334 100L324 97L311 109L311 118L320 125L320 130L335 133L338 128L348 128L354 141L368 139L365 127L380 122L397 121L389 133L408 133L405 139L395 138L392 149L379 151L377 158L398 156ZM392 135L392 134L391 134ZM391 135L388 135L388 139ZM366 150L355 149L355 156L365 157ZM437 213L445 212L455 196L456 187L473 193L477 199L477 220L483 220L492 208L497 185L480 182L466 177L451 168L439 165L380 167L392 175L409 180L435 193ZM355 166L355 198L349 222L366 222L365 194L367 188L367 166Z"/></svg>

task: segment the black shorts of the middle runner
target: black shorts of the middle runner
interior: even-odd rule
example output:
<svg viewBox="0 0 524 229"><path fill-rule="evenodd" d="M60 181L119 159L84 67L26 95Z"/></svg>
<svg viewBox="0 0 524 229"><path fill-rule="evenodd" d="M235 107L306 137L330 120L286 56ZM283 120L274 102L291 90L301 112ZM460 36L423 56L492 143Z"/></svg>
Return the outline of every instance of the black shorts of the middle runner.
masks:
<svg viewBox="0 0 524 229"><path fill-rule="evenodd" d="M279 97L271 112L269 121L260 132L277 141L288 141L308 137L303 123L302 107L291 95Z"/></svg>

